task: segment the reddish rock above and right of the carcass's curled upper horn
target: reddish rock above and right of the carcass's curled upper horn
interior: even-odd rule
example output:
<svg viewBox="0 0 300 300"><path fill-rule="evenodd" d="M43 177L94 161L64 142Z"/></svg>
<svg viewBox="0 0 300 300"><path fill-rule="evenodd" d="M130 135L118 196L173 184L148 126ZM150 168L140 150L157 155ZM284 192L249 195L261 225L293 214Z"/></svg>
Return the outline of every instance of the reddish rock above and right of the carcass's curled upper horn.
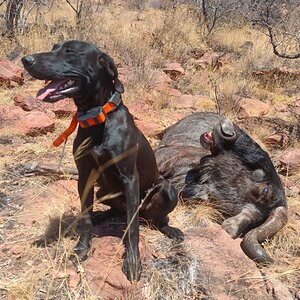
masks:
<svg viewBox="0 0 300 300"><path fill-rule="evenodd" d="M263 116L270 110L267 103L254 98L240 98L237 107L238 118Z"/></svg>

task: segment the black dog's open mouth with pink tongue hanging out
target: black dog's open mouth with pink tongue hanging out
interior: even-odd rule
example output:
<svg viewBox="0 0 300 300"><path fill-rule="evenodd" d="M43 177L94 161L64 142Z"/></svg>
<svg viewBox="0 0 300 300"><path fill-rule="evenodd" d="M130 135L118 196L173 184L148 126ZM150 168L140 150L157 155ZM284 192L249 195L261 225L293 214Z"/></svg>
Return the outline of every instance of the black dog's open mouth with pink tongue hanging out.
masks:
<svg viewBox="0 0 300 300"><path fill-rule="evenodd" d="M79 89L78 80L52 80L37 92L37 99L46 102L56 102L67 97L72 97Z"/></svg>

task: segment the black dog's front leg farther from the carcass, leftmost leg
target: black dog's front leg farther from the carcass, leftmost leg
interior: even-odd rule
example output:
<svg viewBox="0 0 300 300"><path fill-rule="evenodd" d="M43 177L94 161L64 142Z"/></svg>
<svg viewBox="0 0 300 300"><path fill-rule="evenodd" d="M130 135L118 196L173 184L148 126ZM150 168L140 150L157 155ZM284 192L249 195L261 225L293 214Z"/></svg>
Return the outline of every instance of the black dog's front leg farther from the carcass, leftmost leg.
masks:
<svg viewBox="0 0 300 300"><path fill-rule="evenodd" d="M74 252L79 256L80 260L87 258L87 253L90 249L90 240L92 233L92 219L94 202L94 182L90 177L91 173L81 174L79 171L78 192L81 202L81 218L80 218L80 238L74 248Z"/></svg>

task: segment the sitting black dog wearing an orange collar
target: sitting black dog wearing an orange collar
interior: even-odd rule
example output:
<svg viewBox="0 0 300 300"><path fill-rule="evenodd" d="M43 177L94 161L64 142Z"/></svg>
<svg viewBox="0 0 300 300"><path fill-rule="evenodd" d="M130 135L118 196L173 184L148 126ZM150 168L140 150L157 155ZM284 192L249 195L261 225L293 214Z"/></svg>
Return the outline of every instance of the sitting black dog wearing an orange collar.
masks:
<svg viewBox="0 0 300 300"><path fill-rule="evenodd" d="M51 52L25 56L22 62L33 77L51 81L38 92L38 99L55 102L72 97L78 109L73 119L74 128L77 120L80 125L73 154L79 172L82 229L75 253L84 258L90 247L96 182L97 199L111 212L127 213L123 271L129 280L139 280L139 213L168 237L182 240L183 235L168 226L167 215L177 204L176 191L159 176L153 151L122 102L124 88L113 60L94 45L73 40L54 45Z"/></svg>

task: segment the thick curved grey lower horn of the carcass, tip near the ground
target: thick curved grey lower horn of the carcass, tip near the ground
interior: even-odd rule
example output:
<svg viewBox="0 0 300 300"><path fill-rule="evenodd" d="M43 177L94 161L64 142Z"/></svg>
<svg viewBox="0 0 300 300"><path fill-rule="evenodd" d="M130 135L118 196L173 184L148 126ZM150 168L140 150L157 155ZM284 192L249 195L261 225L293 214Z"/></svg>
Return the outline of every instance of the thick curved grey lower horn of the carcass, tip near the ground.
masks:
<svg viewBox="0 0 300 300"><path fill-rule="evenodd" d="M286 223L287 208L284 206L275 208L261 226L249 231L245 235L241 243L243 251L257 263L273 263L273 259L262 248L260 243L272 238Z"/></svg>

